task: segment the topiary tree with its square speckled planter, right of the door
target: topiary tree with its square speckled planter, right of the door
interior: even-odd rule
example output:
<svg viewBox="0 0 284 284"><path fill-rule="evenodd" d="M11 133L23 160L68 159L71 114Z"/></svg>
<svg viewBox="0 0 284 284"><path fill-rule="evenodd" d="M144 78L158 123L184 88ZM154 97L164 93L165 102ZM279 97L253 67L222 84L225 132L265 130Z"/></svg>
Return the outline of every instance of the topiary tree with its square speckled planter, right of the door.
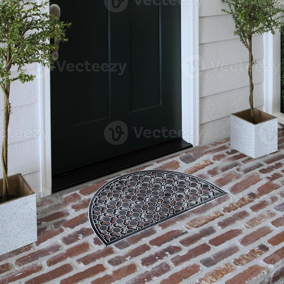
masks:
<svg viewBox="0 0 284 284"><path fill-rule="evenodd" d="M254 34L272 32L281 28L283 6L277 0L221 0L228 5L223 12L231 14L240 37L249 53L248 76L250 80L250 109L231 114L231 147L254 159L276 152L277 118L262 112L253 105L252 53Z"/></svg>

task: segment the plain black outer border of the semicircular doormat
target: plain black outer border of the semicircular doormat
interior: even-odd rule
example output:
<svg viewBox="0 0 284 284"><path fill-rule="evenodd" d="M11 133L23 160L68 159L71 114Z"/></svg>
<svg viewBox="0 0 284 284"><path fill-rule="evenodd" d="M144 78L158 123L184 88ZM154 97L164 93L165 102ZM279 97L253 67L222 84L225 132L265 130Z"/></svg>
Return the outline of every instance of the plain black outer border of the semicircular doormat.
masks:
<svg viewBox="0 0 284 284"><path fill-rule="evenodd" d="M196 205L194 205L194 206L192 206L192 207L190 207L190 208L188 208L188 209L186 209L186 210L184 210L184 211L182 211L182 212L178 212L178 213L173 214L173 215L171 215L171 216L168 216L168 217L166 217L166 218L164 218L164 219L161 219L161 220L155 222L154 224L150 224L150 225L148 225L148 226L146 226L146 227L143 227L143 228L141 228L141 229L139 229L139 230L137 230L137 231L134 231L134 232L128 234L127 236L123 236L123 237L121 237L121 238L119 238L119 239L117 239L117 240L114 240L114 241L111 241L111 242L108 242L108 243L107 243L107 242L101 237L101 235L97 232L97 228L96 228L96 227L92 224L92 222L91 222L90 216L92 215L92 203L93 203L94 199L99 195L99 193L104 189L104 187L107 186L107 185L109 185L109 184L112 183L113 181L115 181L115 180L117 180L117 179L119 179L119 178L123 178L124 176L129 176L129 175L138 174L138 173L141 174L142 172L162 172L162 173L165 173L165 172L166 172L166 173L187 175L187 176L190 176L190 177L199 179L199 180L201 180L201 181L204 181L205 183L210 184L212 187L218 188L218 190L220 190L222 193L219 194L219 195L217 195L217 196L215 196L215 197L213 197L213 198L211 198L211 199L209 199L209 200L206 200L206 201L203 201L203 202L201 202L201 203L199 203L199 204L196 204ZM211 201L213 201L213 200L215 200L215 199L217 199L217 198L220 198L221 196L224 196L224 195L226 195L226 194L228 194L228 192L225 192L224 190L222 190L222 189L219 188L218 186L214 185L213 183L210 183L209 181L206 181L205 179L199 178L198 176L193 176L193 175L191 175L191 174L185 174L185 173L183 173L183 172L174 172L174 171L165 171L165 170L147 170L147 171L130 172L130 173L128 173L128 174L124 174L124 175L122 175L122 176L118 176L118 177L112 179L111 181L109 181L109 182L107 182L107 183L105 183L104 185L101 186L101 188L94 194L94 196L92 197L92 199L91 199L91 201L90 201L90 204L89 204L89 207L88 207L88 219L89 219L89 223L90 223L90 225L91 225L91 227L92 227L94 233L98 236L98 238L102 241L102 243L103 243L105 246L109 246L109 245L113 245L114 243L118 243L118 242L120 242L120 241L122 241L122 240L124 240L124 239L126 239L126 238L128 238L128 237L130 237L130 236L132 236L132 235L134 235L134 234L138 234L138 233L140 233L140 232L142 232L142 231L144 231L144 230L146 230L146 229L149 229L149 228L151 228L151 227L154 227L154 226L156 226L156 225L159 225L160 223L163 223L164 221L167 221L167 220L172 219L172 218L174 218L174 217L176 217L176 216L179 216L179 215L181 215L181 214L184 214L184 213L186 213L186 212L188 212L188 211L190 211L190 210L192 210L192 209L194 209L194 208L196 208L196 207L198 207L198 206L204 205L205 203L209 203L209 202L211 202Z"/></svg>

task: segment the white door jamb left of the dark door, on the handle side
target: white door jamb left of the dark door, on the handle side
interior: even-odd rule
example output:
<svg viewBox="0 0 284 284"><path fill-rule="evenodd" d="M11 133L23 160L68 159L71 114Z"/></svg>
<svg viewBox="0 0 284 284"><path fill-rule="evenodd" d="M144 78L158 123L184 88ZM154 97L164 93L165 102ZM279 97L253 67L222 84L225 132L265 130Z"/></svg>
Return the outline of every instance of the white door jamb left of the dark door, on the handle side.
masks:
<svg viewBox="0 0 284 284"><path fill-rule="evenodd" d="M45 11L49 13L49 6ZM38 67L39 115L40 115L40 178L41 197L51 195L51 113L50 113L50 69Z"/></svg>

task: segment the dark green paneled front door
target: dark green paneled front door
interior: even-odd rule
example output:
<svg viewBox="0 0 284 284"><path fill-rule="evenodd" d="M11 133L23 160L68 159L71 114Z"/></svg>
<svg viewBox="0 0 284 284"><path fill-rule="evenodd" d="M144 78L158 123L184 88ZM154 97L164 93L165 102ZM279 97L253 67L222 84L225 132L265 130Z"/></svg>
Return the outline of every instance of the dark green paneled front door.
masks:
<svg viewBox="0 0 284 284"><path fill-rule="evenodd" d="M62 21L72 22L51 73L54 179L180 139L180 5L52 3L60 6Z"/></svg>

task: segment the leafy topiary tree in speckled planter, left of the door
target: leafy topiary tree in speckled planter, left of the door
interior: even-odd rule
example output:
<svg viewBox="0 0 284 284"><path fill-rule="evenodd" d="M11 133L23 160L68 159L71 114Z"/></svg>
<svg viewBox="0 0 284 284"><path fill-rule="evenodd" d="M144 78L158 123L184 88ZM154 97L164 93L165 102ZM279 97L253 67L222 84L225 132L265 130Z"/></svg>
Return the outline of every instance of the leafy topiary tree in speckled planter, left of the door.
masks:
<svg viewBox="0 0 284 284"><path fill-rule="evenodd" d="M10 86L14 81L33 81L34 75L23 68L39 63L53 68L52 52L59 45L50 38L65 39L70 24L42 13L49 1L32 0L0 2L0 88L4 97L2 166L0 187L0 255L37 241L36 196L21 174L8 176L8 125L11 114Z"/></svg>

